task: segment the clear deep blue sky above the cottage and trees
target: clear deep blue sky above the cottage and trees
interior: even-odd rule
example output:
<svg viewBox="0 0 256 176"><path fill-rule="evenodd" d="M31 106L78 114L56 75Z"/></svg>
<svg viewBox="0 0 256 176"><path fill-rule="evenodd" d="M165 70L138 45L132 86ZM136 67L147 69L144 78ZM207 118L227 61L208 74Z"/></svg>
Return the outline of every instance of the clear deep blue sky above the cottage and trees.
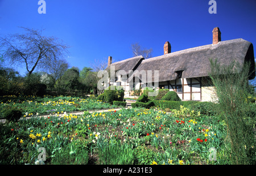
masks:
<svg viewBox="0 0 256 176"><path fill-rule="evenodd" d="M217 14L209 14L209 0L45 0L46 14L38 13L38 1L0 0L0 36L23 32L18 27L44 28L43 35L71 46L66 59L80 70L95 59L133 57L135 42L152 48L153 57L163 55L166 41L172 52L211 44L214 27L222 41L256 45L255 0L216 0Z"/></svg>

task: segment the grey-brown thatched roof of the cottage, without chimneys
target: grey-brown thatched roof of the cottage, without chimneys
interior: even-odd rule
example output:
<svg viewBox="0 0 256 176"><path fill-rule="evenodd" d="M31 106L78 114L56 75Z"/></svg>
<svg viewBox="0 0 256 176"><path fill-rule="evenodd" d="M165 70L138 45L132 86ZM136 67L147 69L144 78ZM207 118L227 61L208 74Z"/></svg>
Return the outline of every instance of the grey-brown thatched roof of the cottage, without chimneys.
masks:
<svg viewBox="0 0 256 176"><path fill-rule="evenodd" d="M158 70L159 81L168 81L177 79L179 72L182 72L181 78L208 76L210 59L217 59L217 63L221 65L229 65L233 61L243 65L245 61L250 61L250 69L254 71L254 75L249 79L255 78L253 44L242 38L220 41L216 45L199 46L149 59L144 59L142 56L133 57L112 63L110 66L115 66L115 71L124 70L127 74L131 70L141 73L150 70L152 71L152 81L154 81L154 71ZM139 78L142 76L140 75Z"/></svg>

